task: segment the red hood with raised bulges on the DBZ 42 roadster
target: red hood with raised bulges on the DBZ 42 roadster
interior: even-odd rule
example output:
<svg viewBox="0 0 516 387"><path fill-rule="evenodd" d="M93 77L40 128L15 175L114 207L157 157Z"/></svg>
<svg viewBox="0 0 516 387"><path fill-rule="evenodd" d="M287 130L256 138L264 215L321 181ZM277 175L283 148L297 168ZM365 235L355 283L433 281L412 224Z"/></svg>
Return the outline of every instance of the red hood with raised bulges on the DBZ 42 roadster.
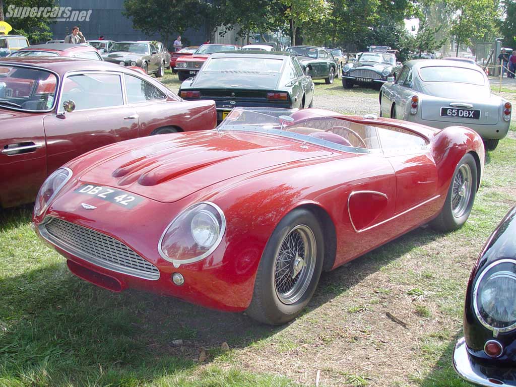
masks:
<svg viewBox="0 0 516 387"><path fill-rule="evenodd" d="M170 203L237 176L331 154L255 132L179 133L123 141L90 153L97 162L79 180Z"/></svg>

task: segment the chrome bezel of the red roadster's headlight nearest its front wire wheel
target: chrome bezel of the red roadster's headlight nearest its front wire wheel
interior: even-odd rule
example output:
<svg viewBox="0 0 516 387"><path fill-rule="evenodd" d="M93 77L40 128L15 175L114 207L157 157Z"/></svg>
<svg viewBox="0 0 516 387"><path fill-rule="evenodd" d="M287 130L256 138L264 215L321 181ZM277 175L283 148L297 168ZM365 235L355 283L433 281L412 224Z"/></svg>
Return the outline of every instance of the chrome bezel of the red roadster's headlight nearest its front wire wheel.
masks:
<svg viewBox="0 0 516 387"><path fill-rule="evenodd" d="M201 207L203 205L207 205L207 206L211 207L214 210L214 213L216 213L220 218L220 223L218 224L218 236L215 239L213 245L211 247L209 247L205 252L201 253L200 255L191 257L189 259L179 260L179 259L171 258L170 256L167 255L167 253L164 251L164 249L162 247L164 239L165 239L168 231L170 230L170 228L176 221L183 221L183 223L179 224L179 227L183 227L183 231L190 232L191 237L197 243L197 240L193 236L193 232L192 232L192 220L193 220L193 218L195 218L197 215L199 215L203 211L206 211L204 209L201 209ZM197 213L196 213L196 208L199 208ZM181 220L181 218L184 218L184 217L186 218L188 216L190 216L189 222L187 222L186 219ZM213 202L209 202L209 201L203 201L203 202L198 202L198 203L192 204L192 205L188 206L187 208L185 208L176 217L174 217L174 219L172 219L172 221L170 223L168 223L167 227L163 231L163 234L161 235L161 237L159 238L159 241L158 241L159 255L165 261L171 262L174 265L174 267L176 267L176 268L179 267L180 265L199 262L199 261L205 259L207 256L211 255L217 249L217 247L220 245L220 242L222 241L222 238L225 233L225 229L226 229L226 220L225 220L224 212L218 205L216 205ZM201 245L199 245L199 246L201 246Z"/></svg>

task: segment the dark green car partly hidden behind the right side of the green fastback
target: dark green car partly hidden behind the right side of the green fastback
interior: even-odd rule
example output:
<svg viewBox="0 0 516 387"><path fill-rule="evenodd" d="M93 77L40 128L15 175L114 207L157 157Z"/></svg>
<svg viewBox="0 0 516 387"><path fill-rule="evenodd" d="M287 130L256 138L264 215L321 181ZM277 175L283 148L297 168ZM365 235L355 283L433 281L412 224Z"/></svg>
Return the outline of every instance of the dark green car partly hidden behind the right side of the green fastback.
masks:
<svg viewBox="0 0 516 387"><path fill-rule="evenodd" d="M338 76L338 61L331 53L320 47L292 46L285 51L296 55L305 74L313 79L324 79L326 84L330 85Z"/></svg>

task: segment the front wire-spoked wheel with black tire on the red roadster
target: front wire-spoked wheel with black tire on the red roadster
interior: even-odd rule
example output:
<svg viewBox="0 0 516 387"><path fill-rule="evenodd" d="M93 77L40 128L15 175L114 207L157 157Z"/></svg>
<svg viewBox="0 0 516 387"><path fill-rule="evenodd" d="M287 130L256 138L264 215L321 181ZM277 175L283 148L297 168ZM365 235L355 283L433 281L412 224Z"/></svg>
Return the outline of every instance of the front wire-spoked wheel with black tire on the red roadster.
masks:
<svg viewBox="0 0 516 387"><path fill-rule="evenodd" d="M303 239L302 235L305 235L306 239ZM287 236L294 239L286 240ZM296 241L299 242L299 240L301 240L301 245L296 245ZM309 241L309 243L307 244L305 241ZM281 255L282 259L278 261L277 257L280 256L281 247L291 247L292 244L302 246L303 254L299 255L299 250L296 251L295 256L284 252ZM311 251L310 256L307 254L307 249ZM269 325L286 324L296 318L315 292L323 261L324 239L317 218L307 209L298 208L289 212L272 232L262 254L256 272L253 298L247 314L253 319ZM294 262L297 264L294 265ZM299 270L297 273L294 271L296 267ZM278 279L276 275L279 273L282 274ZM296 280L291 281L289 278L291 275L295 275ZM285 284L283 279L289 282ZM288 297L291 291L286 293L278 291L278 286L281 289L288 288L291 282L294 283L291 297ZM298 289L294 292L296 287Z"/></svg>

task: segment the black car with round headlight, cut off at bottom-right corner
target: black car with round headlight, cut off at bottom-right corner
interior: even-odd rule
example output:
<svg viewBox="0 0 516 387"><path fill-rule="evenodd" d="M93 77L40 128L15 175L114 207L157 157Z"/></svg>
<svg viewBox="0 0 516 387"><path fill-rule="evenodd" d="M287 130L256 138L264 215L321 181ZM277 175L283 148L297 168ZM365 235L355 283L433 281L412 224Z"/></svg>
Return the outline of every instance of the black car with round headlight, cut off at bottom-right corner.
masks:
<svg viewBox="0 0 516 387"><path fill-rule="evenodd" d="M516 386L516 206L488 239L467 285L453 364L465 380Z"/></svg>

